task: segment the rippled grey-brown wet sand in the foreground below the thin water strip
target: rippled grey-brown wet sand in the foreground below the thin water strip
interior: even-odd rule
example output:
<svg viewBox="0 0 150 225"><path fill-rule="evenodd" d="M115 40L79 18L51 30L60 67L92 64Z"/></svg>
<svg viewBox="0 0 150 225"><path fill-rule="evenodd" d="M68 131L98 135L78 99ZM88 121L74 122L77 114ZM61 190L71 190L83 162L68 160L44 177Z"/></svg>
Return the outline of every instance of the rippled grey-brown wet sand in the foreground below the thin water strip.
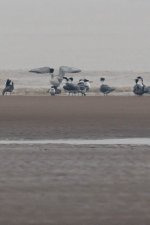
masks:
<svg viewBox="0 0 150 225"><path fill-rule="evenodd" d="M149 225L142 146L1 146L0 224Z"/></svg>

